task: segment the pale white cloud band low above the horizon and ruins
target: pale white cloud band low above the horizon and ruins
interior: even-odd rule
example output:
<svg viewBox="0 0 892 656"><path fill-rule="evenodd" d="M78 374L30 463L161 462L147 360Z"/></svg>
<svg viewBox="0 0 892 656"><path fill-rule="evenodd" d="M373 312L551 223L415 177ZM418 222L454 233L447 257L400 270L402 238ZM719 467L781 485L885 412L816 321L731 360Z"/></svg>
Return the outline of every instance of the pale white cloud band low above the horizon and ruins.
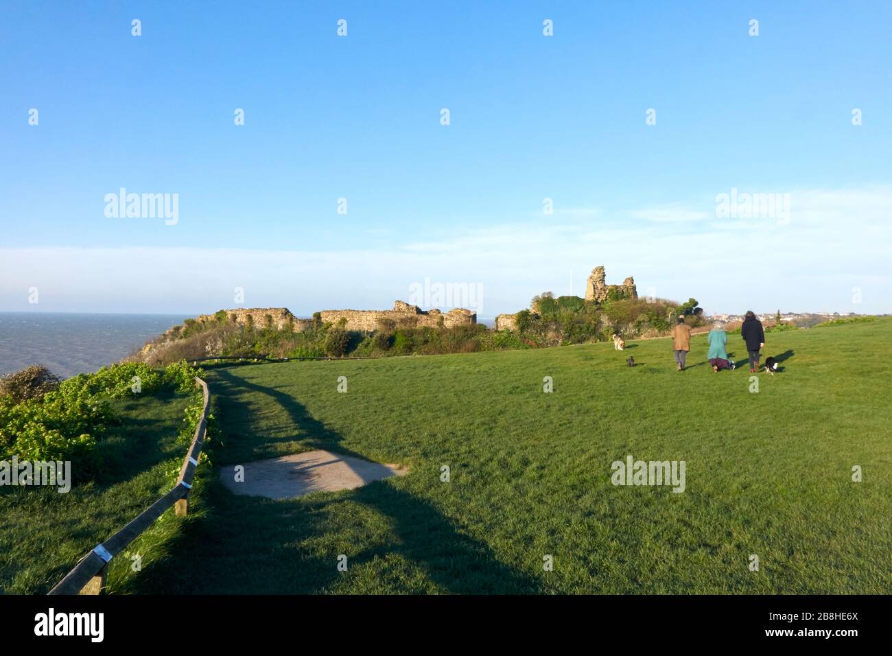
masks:
<svg viewBox="0 0 892 656"><path fill-rule="evenodd" d="M0 310L213 311L231 307L242 286L248 305L307 315L388 307L430 278L481 285L481 316L492 316L542 291L567 294L571 279L581 295L603 264L608 282L634 276L642 294L693 295L707 311L892 311L892 187L789 193L788 222L634 221L624 212L457 228L349 251L5 248ZM853 303L855 288L863 303Z"/></svg>

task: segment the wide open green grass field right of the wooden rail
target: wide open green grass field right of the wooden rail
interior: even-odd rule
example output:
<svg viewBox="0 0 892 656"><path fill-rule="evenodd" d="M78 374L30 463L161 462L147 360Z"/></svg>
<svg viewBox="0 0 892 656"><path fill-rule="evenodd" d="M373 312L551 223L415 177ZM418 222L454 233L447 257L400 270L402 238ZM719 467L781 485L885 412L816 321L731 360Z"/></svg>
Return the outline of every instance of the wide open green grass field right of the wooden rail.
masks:
<svg viewBox="0 0 892 656"><path fill-rule="evenodd" d="M219 464L325 448L411 471L290 501L212 482L117 591L889 593L890 331L770 334L784 370L758 393L703 336L683 372L666 340L211 369ZM629 454L685 461L685 491L613 486Z"/></svg>

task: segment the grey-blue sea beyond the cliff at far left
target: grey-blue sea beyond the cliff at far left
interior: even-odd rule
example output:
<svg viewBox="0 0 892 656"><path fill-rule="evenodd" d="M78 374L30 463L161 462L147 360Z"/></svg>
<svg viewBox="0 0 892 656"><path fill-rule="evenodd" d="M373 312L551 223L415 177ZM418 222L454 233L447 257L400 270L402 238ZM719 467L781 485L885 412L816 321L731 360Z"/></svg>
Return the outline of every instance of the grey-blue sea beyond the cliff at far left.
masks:
<svg viewBox="0 0 892 656"><path fill-rule="evenodd" d="M0 312L0 376L43 364L62 378L120 361L186 319L180 314Z"/></svg>

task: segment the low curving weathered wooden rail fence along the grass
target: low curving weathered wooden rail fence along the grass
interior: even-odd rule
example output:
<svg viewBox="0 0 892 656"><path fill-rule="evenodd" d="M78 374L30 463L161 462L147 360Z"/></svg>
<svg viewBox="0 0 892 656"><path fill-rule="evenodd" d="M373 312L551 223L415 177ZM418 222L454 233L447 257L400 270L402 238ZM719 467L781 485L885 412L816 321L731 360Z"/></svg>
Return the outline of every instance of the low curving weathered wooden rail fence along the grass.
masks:
<svg viewBox="0 0 892 656"><path fill-rule="evenodd" d="M208 411L211 403L208 384L201 378L195 378L195 385L202 388L202 419L195 427L195 436L188 453L186 453L183 467L179 470L177 485L103 544L96 545L91 552L78 561L74 569L71 569L50 590L49 594L99 594L105 586L109 561L114 556L123 551L128 544L150 527L155 519L161 517L170 506L175 506L174 511L178 515L186 515L189 509L189 490L192 489L192 479L195 475L195 468L198 467L204 436L207 433Z"/></svg>

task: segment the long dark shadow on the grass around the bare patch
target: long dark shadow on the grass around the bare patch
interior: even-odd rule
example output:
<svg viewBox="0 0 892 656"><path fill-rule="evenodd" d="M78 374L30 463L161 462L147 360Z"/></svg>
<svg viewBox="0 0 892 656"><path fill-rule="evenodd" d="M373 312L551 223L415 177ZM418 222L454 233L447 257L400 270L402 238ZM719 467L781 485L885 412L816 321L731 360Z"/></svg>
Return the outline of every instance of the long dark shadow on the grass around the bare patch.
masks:
<svg viewBox="0 0 892 656"><path fill-rule="evenodd" d="M259 386L217 370L229 387L228 411L238 388L268 394L288 412L301 430L302 444L358 458L344 449L343 437L310 416L283 392ZM219 387L219 386L218 386ZM218 394L219 389L211 390ZM215 478L204 489L203 516L183 524L169 545L171 557L153 561L125 581L122 592L148 594L310 594L324 592L350 573L337 570L344 553L351 569L397 554L423 571L429 581L448 593L520 594L540 591L540 584L500 562L490 547L465 535L432 502L394 486L394 479L376 481L344 493L311 494L275 501L231 494ZM362 521L352 504L359 503L387 519L381 539L368 536L355 524ZM333 532L332 526L336 525ZM338 531L341 531L339 533ZM325 544L326 546L321 546ZM388 572L388 580L400 572ZM349 579L347 579L349 580ZM382 585L384 585L382 583ZM385 592L411 592L399 583Z"/></svg>

